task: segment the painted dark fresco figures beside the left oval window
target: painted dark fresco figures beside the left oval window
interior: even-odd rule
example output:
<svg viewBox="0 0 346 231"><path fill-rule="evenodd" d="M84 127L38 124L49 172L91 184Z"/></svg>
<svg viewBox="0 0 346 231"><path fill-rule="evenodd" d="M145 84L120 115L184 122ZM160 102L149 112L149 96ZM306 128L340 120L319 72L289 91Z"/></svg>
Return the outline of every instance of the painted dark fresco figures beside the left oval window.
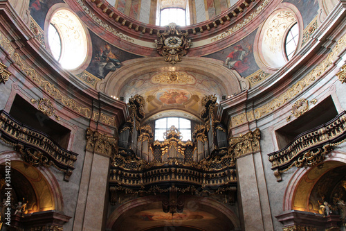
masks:
<svg viewBox="0 0 346 231"><path fill-rule="evenodd" d="M92 74L98 78L104 78L109 71L115 71L122 66L118 56L111 51L111 46L107 43L95 54L91 62L94 71Z"/></svg>

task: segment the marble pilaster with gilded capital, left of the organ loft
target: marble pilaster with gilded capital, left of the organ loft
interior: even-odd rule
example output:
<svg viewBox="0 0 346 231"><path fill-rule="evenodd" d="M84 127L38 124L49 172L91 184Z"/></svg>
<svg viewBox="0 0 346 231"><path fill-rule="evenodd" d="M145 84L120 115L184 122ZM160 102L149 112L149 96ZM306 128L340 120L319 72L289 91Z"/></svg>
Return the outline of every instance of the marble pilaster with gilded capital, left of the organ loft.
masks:
<svg viewBox="0 0 346 231"><path fill-rule="evenodd" d="M73 231L104 230L107 219L108 180L111 156L117 140L90 128Z"/></svg>

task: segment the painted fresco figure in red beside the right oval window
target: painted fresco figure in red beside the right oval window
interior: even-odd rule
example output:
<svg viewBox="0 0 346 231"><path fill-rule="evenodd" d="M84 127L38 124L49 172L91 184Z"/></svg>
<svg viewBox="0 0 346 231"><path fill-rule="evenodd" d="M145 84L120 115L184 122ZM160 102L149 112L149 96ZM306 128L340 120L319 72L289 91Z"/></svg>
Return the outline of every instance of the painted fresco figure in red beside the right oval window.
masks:
<svg viewBox="0 0 346 231"><path fill-rule="evenodd" d="M230 52L225 60L225 66L229 69L235 69L239 73L246 71L250 66L248 65L249 51L244 51L241 45L234 47L234 51Z"/></svg>

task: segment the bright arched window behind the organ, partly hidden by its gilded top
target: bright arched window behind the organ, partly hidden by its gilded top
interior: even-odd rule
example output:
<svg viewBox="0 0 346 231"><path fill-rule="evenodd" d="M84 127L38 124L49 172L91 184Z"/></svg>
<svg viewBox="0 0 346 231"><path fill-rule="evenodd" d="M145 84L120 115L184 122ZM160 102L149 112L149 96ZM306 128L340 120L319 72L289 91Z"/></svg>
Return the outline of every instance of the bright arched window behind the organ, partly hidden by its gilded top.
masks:
<svg viewBox="0 0 346 231"><path fill-rule="evenodd" d="M181 117L165 117L155 121L154 139L163 141L163 133L170 129L171 126L176 127L182 136L182 141L191 140L191 121Z"/></svg>

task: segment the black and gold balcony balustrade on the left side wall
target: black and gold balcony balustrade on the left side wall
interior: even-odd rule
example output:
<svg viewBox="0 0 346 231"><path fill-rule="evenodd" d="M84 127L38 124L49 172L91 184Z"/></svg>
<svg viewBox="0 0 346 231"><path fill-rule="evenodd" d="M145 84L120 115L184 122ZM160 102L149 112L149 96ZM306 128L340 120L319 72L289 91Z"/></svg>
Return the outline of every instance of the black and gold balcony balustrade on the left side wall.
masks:
<svg viewBox="0 0 346 231"><path fill-rule="evenodd" d="M33 166L53 165L65 173L66 181L75 169L78 154L60 147L43 132L19 123L3 110L0 111L0 136L4 142L14 146L25 162Z"/></svg>

